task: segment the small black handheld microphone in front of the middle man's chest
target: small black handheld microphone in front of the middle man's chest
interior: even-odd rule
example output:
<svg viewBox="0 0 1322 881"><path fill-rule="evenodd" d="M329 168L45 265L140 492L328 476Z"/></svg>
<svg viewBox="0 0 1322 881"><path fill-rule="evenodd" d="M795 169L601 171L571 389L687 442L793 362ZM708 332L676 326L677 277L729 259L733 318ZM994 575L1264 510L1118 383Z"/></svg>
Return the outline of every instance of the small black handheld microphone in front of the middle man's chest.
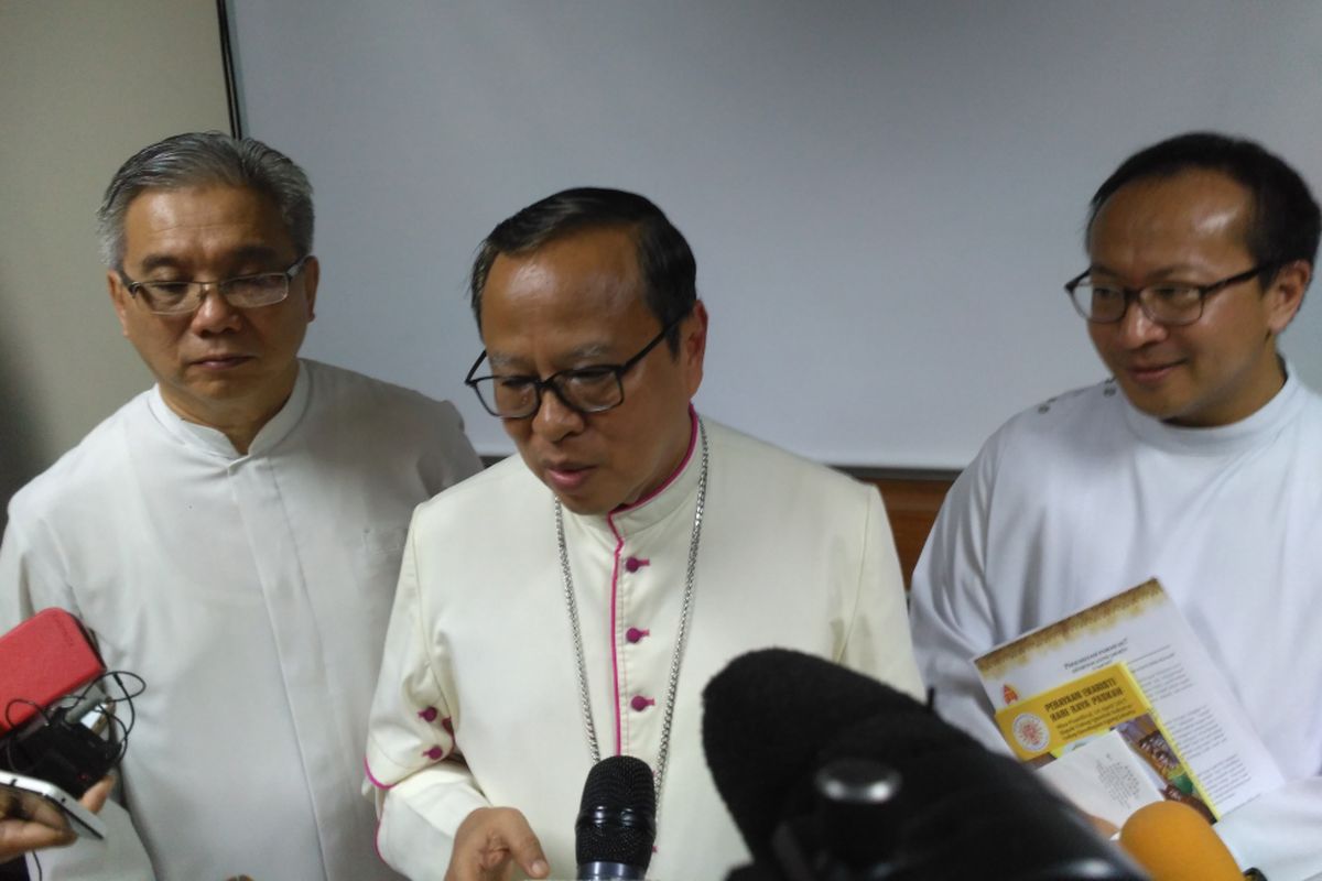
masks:
<svg viewBox="0 0 1322 881"><path fill-rule="evenodd" d="M648 763L632 756L603 758L587 773L574 851L578 881L641 881L657 837L656 786Z"/></svg>

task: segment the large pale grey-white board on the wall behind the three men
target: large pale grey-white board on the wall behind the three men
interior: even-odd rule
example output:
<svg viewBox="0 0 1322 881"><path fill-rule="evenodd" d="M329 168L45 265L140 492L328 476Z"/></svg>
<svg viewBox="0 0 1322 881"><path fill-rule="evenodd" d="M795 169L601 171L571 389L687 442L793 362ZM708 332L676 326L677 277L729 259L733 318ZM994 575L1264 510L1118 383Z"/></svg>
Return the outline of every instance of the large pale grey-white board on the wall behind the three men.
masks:
<svg viewBox="0 0 1322 881"><path fill-rule="evenodd" d="M1314 0L231 0L246 127L317 188L307 351L456 399L464 277L579 184L657 201L698 256L709 413L849 465L962 466L1100 379L1060 285L1088 197L1191 128L1322 188ZM1314 295L1317 299L1317 295ZM1286 350L1322 386L1309 304Z"/></svg>

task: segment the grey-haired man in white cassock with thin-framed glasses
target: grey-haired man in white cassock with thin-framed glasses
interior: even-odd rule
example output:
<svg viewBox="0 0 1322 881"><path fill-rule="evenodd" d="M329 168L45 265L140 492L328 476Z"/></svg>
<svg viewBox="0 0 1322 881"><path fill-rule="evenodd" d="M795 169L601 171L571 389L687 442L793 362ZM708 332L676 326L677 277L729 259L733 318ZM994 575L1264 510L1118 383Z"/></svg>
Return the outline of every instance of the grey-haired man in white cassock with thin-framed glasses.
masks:
<svg viewBox="0 0 1322 881"><path fill-rule="evenodd" d="M131 824L107 806L110 839L44 852L44 874L397 877L358 794L364 734L411 511L480 468L457 411L299 359L312 190L279 152L167 139L99 221L156 384L13 497L0 626L69 609L145 691Z"/></svg>

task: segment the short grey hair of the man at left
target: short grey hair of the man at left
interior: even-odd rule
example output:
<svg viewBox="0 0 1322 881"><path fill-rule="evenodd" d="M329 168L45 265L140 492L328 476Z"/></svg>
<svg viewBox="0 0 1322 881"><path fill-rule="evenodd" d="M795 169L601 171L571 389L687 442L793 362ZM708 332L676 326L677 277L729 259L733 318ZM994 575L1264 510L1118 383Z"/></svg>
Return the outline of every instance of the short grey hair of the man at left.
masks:
<svg viewBox="0 0 1322 881"><path fill-rule="evenodd" d="M225 132L175 135L137 151L115 173L97 210L100 256L123 269L124 214L143 190L235 186L271 198L299 256L312 254L312 185L293 160L253 137Z"/></svg>

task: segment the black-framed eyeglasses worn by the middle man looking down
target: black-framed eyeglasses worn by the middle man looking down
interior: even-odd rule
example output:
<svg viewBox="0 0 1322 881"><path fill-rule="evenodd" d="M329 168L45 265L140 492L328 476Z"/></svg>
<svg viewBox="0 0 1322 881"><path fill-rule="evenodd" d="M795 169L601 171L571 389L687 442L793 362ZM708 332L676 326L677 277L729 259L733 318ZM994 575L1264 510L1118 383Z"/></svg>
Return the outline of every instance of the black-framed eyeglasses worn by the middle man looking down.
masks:
<svg viewBox="0 0 1322 881"><path fill-rule="evenodd" d="M642 346L639 354L623 365L595 365L575 367L551 374L546 379L537 376L473 376L486 350L468 370L464 384L477 394L477 400L492 416L501 419L527 419L542 407L542 392L553 391L570 409L579 413L600 413L624 403L624 374L648 357L661 341L680 325L682 318L672 321L661 329L652 341Z"/></svg>

